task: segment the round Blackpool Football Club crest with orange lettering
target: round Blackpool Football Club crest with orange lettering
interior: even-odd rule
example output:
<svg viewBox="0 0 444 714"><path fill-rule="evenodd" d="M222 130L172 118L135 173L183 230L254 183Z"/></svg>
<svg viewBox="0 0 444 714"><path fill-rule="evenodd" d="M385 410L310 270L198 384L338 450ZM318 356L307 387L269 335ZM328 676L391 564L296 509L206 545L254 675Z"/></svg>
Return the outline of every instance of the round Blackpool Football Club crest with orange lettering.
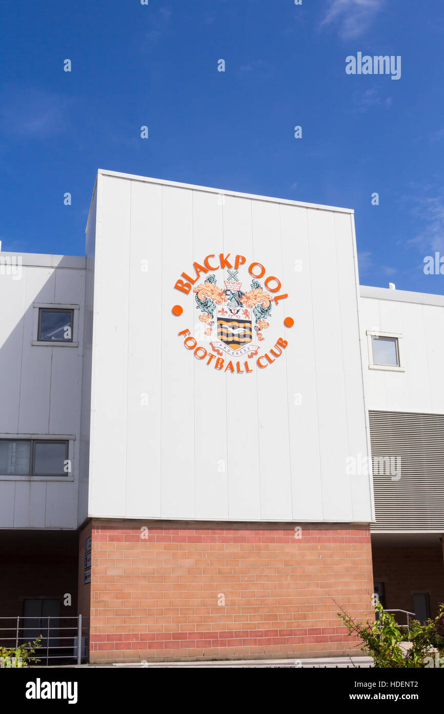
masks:
<svg viewBox="0 0 444 714"><path fill-rule="evenodd" d="M177 336L207 368L248 374L257 367L267 368L284 354L288 340L277 331L294 325L290 315L282 315L282 301L288 294L262 263L248 263L239 254L211 253L192 263L191 271L182 271L174 288L194 298L195 310L188 309L186 319L197 313L193 328L185 322L182 304L172 306L179 321ZM269 329L276 315L283 320Z"/></svg>

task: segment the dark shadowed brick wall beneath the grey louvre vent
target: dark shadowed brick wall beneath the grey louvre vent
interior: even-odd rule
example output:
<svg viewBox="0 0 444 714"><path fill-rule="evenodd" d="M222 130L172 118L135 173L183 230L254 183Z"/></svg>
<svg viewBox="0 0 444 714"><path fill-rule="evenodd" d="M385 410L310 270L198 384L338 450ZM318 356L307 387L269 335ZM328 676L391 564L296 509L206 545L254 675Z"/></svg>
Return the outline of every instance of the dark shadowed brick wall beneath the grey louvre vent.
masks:
<svg viewBox="0 0 444 714"><path fill-rule="evenodd" d="M413 593L429 593L432 617L444 603L443 550L439 546L373 548L373 574L375 583L384 583L388 610L413 612Z"/></svg>

